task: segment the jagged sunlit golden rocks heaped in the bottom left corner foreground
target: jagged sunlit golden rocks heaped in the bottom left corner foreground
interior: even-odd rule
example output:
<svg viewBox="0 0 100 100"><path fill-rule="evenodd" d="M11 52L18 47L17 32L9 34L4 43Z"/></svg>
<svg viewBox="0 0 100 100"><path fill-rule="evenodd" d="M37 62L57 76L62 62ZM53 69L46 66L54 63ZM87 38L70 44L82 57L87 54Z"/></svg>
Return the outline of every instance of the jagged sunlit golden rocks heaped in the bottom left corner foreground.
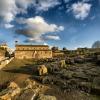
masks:
<svg viewBox="0 0 100 100"><path fill-rule="evenodd" d="M10 82L10 85L1 91L0 100L56 100L56 97L43 95L41 91L45 90L46 86L37 84L35 81L27 79L25 87L20 88L15 82Z"/></svg>

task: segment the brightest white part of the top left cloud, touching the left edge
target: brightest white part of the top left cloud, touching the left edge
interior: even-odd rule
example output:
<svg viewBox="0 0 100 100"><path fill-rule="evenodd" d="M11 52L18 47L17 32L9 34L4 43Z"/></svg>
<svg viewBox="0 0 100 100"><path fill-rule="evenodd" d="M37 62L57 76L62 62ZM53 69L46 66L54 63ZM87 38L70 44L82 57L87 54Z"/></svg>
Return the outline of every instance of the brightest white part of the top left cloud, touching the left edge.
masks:
<svg viewBox="0 0 100 100"><path fill-rule="evenodd" d="M11 22L17 14L15 0L0 0L0 17L7 23Z"/></svg>

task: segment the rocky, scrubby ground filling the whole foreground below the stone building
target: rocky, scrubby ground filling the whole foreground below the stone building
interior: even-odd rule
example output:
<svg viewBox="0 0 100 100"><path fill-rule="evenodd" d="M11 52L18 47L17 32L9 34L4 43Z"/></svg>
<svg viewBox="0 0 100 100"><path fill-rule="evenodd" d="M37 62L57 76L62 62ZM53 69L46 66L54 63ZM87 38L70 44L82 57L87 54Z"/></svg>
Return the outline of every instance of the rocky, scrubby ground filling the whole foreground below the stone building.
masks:
<svg viewBox="0 0 100 100"><path fill-rule="evenodd" d="M9 64L1 71L5 77L11 73L13 77L10 75L5 86L9 78L1 82L0 100L100 100L100 65L96 58L31 62L21 62L19 67L17 61L17 68ZM15 61L12 63L15 65ZM45 74L40 65L47 68Z"/></svg>

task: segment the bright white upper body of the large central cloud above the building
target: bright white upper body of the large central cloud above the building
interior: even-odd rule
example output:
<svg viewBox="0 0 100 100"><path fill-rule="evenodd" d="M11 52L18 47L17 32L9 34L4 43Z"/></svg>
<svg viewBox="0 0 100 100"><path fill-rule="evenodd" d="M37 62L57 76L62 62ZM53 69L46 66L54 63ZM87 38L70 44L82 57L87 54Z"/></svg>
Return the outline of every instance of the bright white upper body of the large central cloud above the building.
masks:
<svg viewBox="0 0 100 100"><path fill-rule="evenodd" d="M63 26L57 26L56 24L48 24L41 16L29 18L26 20L27 27L32 30L32 35L45 34L49 32L63 31Z"/></svg>

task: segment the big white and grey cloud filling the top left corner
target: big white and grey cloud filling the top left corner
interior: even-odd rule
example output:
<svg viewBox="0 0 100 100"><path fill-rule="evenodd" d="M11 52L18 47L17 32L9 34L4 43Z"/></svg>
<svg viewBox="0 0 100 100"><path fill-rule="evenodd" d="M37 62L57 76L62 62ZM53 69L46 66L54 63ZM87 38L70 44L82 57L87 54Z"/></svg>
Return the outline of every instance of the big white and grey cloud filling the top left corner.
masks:
<svg viewBox="0 0 100 100"><path fill-rule="evenodd" d="M18 13L21 13L23 9L26 10L28 5L30 5L32 0L0 0L0 18L1 23L5 24L7 28L11 28L11 21L15 19ZM20 5L20 8L17 6ZM8 25L9 26L8 26Z"/></svg>

